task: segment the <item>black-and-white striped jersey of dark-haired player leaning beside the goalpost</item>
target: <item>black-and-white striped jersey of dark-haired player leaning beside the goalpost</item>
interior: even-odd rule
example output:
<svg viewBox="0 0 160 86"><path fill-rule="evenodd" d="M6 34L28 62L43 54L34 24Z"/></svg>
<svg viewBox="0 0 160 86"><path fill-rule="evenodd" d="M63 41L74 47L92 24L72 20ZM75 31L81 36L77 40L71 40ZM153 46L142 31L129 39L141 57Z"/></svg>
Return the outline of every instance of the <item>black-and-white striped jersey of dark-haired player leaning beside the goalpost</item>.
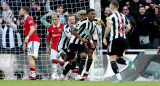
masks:
<svg viewBox="0 0 160 86"><path fill-rule="evenodd" d="M93 21L90 22L88 18L80 20L74 28L78 29L77 33L83 39L88 39L90 34L92 34L92 36L94 36L93 34L97 34L96 23ZM83 45L83 42L74 35L72 36L70 43Z"/></svg>

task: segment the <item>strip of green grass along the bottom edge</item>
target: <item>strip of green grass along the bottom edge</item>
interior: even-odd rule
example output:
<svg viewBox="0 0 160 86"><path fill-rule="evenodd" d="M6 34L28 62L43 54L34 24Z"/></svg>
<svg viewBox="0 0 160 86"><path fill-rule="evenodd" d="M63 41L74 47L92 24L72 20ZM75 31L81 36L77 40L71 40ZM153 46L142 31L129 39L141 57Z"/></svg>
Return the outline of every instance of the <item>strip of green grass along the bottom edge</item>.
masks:
<svg viewBox="0 0 160 86"><path fill-rule="evenodd" d="M0 86L160 86L160 82L125 81L112 83L111 81L23 81L0 80Z"/></svg>

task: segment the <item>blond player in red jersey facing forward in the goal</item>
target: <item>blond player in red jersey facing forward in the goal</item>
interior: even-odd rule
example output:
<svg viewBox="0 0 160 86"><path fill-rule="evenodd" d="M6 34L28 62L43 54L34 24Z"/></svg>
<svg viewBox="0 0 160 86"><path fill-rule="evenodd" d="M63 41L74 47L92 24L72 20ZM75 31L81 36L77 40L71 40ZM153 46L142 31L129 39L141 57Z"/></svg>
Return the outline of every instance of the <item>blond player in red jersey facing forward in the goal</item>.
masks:
<svg viewBox="0 0 160 86"><path fill-rule="evenodd" d="M65 62L60 57L58 60L56 58L56 55L58 53L57 51L57 45L61 36L61 31L63 29L63 24L59 23L59 16L57 14L52 15L52 22L53 24L48 27L47 31L47 53L50 54L50 40L52 38L52 44L51 44L51 60L52 60L52 75L51 78L54 76L58 76L57 74L57 63L59 61L59 64L64 66Z"/></svg>

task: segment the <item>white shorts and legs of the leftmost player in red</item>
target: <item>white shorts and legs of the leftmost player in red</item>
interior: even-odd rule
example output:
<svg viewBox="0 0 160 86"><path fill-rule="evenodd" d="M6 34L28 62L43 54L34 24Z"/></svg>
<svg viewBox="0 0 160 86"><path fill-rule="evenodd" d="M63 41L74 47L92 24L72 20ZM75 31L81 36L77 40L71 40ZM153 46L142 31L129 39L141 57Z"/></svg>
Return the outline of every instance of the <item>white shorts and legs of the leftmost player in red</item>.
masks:
<svg viewBox="0 0 160 86"><path fill-rule="evenodd" d="M30 76L26 80L36 80L36 74L35 74L36 63L35 63L35 59L38 58L39 45L40 45L40 43L36 42L36 41L31 41L27 45L27 49L28 49L27 59L28 59L29 66L30 66Z"/></svg>

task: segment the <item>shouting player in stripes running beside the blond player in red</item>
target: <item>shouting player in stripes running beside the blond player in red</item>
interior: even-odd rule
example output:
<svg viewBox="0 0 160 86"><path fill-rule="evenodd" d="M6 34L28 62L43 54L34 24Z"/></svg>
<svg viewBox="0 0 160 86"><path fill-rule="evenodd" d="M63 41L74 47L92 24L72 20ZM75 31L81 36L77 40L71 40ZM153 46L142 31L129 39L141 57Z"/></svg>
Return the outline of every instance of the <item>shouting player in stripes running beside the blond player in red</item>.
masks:
<svg viewBox="0 0 160 86"><path fill-rule="evenodd" d="M68 46L69 46L69 42L70 42L70 39L72 37L72 29L73 29L73 26L75 25L75 16L73 14L69 14L68 15L68 24L66 24L64 26L64 28L62 29L62 32L61 32L61 37L59 39L59 43L58 43L58 46L57 46L57 49L59 51L59 53L57 54L57 58L60 56L60 54L62 54L63 52L67 53L67 49L68 49ZM62 57L62 55L61 55ZM63 57L62 57L63 58ZM64 58L64 61L67 61L67 58L68 58L68 55L66 54L65 55L65 58ZM65 69L63 71L63 73L61 74L60 76L60 79L61 80L66 80L67 77L66 77L66 74L69 72L70 69L68 69L67 67L68 66L74 66L73 68L75 68L76 64L67 64L65 66ZM72 69L72 68L71 68Z"/></svg>

